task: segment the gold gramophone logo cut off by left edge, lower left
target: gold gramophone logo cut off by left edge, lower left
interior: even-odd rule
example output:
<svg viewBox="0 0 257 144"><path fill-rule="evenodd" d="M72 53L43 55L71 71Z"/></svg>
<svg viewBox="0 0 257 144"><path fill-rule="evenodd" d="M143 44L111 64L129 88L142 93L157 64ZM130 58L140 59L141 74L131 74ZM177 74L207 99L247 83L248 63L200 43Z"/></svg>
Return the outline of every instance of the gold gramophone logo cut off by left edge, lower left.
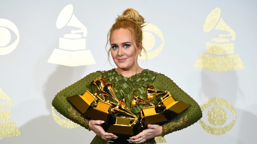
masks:
<svg viewBox="0 0 257 144"><path fill-rule="evenodd" d="M2 102L4 100L5 102ZM21 133L15 122L11 121L13 102L0 88L0 137L20 136Z"/></svg>

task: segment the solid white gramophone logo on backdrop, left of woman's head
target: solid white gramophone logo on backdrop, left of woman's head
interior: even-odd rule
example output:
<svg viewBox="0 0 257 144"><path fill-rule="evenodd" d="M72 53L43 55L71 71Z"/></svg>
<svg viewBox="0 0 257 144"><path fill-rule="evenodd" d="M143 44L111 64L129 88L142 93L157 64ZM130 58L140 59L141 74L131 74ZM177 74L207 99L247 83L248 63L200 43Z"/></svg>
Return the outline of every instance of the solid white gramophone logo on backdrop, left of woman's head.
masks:
<svg viewBox="0 0 257 144"><path fill-rule="evenodd" d="M47 62L69 67L96 64L90 50L86 49L86 27L73 14L72 4L67 5L59 14L56 27L72 26L79 30L72 30L71 34L64 34L59 38L59 49L54 49ZM77 34L77 33L83 33Z"/></svg>

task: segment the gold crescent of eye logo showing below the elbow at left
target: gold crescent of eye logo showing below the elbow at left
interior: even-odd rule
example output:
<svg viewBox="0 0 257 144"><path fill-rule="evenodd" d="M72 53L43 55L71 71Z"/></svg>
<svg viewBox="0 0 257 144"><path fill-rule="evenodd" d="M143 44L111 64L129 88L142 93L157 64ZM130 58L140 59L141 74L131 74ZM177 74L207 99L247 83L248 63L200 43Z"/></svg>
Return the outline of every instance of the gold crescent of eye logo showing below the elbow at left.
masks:
<svg viewBox="0 0 257 144"><path fill-rule="evenodd" d="M69 129L72 129L72 128L75 128L75 127L78 127L79 125L68 120L67 118L65 118L63 115L62 117L63 118L60 118L56 113L55 113L55 108L52 107L52 116L54 118L54 120L56 121L57 124L59 124L60 126L64 127L64 128L69 128Z"/></svg>

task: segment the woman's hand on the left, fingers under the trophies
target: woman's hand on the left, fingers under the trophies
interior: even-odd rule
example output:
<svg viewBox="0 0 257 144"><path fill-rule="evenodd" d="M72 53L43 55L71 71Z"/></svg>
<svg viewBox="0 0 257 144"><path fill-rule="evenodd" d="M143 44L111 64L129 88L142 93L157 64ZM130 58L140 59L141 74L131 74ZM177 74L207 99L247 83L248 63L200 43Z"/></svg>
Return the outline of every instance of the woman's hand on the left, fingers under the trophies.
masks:
<svg viewBox="0 0 257 144"><path fill-rule="evenodd" d="M101 120L90 120L89 128L103 140L106 140L107 142L113 142L112 139L117 139L118 137L112 133L105 132L103 127L101 126L101 124L103 123L104 121Z"/></svg>

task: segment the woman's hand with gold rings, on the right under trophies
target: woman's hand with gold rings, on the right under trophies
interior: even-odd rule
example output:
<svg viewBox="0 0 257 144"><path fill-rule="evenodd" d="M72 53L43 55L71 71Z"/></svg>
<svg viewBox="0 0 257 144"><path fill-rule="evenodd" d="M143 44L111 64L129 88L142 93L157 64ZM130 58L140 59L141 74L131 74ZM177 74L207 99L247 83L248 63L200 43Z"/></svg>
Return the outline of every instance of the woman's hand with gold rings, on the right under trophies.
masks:
<svg viewBox="0 0 257 144"><path fill-rule="evenodd" d="M147 128L139 134L130 137L128 140L129 143L144 143L146 140L162 135L162 126L158 124L148 124Z"/></svg>

